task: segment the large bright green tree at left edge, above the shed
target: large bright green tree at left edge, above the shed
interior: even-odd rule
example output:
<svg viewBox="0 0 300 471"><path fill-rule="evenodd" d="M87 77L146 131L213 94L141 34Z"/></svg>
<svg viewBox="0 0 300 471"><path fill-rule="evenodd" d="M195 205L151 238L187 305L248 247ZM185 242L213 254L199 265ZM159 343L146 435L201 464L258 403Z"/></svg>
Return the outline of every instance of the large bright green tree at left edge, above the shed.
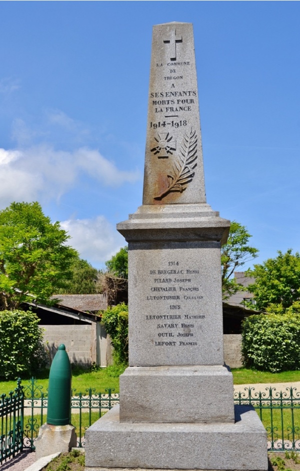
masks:
<svg viewBox="0 0 300 471"><path fill-rule="evenodd" d="M37 202L11 203L0 211L3 309L16 309L24 301L50 303L50 296L71 276L71 265L78 256L66 245L68 238Z"/></svg>

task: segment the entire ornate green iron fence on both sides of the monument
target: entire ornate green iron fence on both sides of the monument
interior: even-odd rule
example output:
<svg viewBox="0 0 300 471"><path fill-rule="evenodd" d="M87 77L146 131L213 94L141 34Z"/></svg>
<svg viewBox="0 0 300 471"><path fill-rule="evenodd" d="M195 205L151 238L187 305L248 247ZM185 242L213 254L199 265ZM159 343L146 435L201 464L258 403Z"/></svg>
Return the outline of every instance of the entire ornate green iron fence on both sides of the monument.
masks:
<svg viewBox="0 0 300 471"><path fill-rule="evenodd" d="M79 447L84 446L85 430L118 401L114 389L97 392L89 388L77 393L73 389L71 423L76 427ZM256 409L267 431L269 450L300 450L300 392L295 388L277 391L269 387L259 392L245 388L234 394L234 403ZM0 463L24 448L35 449L46 408L47 392L33 378L24 384L18 380L14 391L0 396Z"/></svg>

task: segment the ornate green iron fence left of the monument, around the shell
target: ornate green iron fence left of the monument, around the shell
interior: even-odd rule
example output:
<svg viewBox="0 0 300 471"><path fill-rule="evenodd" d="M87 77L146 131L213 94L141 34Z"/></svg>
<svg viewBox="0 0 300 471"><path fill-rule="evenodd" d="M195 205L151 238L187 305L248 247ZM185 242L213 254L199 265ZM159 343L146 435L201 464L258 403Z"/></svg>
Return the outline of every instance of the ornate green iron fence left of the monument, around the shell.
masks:
<svg viewBox="0 0 300 471"><path fill-rule="evenodd" d="M104 392L72 390L71 423L76 428L77 446L84 446L85 430L118 401L119 395L111 388ZM39 427L46 420L47 402L47 392L34 378L24 384L18 380L14 392L0 396L0 464L18 451L35 449Z"/></svg>

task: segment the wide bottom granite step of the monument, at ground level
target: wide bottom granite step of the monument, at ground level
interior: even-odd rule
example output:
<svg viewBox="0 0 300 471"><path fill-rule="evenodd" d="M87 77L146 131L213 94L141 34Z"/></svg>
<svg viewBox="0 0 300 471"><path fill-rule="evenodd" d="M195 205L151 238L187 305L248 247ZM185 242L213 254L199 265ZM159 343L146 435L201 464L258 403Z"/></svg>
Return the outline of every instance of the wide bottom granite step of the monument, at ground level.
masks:
<svg viewBox="0 0 300 471"><path fill-rule="evenodd" d="M252 407L235 423L119 422L113 407L85 434L85 470L267 470L266 431Z"/></svg>

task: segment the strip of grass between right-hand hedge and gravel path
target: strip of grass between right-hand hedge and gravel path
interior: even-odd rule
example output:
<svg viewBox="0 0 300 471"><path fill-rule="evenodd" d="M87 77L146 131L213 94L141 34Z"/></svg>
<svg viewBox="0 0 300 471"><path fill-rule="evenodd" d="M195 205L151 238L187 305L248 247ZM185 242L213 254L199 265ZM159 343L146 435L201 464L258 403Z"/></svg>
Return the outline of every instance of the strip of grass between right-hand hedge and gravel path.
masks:
<svg viewBox="0 0 300 471"><path fill-rule="evenodd" d="M300 371L282 371L268 373L245 368L232 368L234 384L284 383L300 381Z"/></svg>

